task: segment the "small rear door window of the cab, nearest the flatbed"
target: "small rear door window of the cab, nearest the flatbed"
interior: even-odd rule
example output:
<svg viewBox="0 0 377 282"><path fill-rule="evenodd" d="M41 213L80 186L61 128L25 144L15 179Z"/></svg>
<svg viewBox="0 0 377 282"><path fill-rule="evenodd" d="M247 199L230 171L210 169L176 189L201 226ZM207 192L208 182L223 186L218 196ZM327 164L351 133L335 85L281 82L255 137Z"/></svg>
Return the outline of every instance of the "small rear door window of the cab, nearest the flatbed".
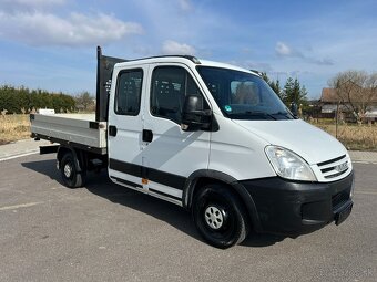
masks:
<svg viewBox="0 0 377 282"><path fill-rule="evenodd" d="M115 114L137 115L143 82L142 70L122 71L118 75L115 94Z"/></svg>

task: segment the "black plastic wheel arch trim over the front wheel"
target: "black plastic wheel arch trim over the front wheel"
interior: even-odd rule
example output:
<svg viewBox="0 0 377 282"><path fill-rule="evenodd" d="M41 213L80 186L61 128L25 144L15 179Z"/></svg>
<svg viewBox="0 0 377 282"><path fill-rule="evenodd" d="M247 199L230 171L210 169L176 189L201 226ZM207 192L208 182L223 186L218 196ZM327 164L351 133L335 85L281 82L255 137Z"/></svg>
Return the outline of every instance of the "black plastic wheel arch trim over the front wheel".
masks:
<svg viewBox="0 0 377 282"><path fill-rule="evenodd" d="M192 208L194 195L206 184L223 184L227 186L244 205L247 216L252 221L253 229L255 231L262 231L261 221L252 196L237 179L222 171L201 169L191 174L186 180L182 195L182 205L184 208L188 210Z"/></svg>

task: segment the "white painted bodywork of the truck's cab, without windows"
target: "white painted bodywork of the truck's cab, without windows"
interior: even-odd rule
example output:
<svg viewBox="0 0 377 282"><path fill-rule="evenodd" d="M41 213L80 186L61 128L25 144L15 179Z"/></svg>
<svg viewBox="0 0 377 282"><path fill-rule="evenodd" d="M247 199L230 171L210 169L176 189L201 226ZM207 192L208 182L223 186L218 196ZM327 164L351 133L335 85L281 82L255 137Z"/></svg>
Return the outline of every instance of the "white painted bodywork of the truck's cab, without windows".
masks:
<svg viewBox="0 0 377 282"><path fill-rule="evenodd" d="M153 69L159 65L179 65L185 69L203 93L218 123L216 132L184 132L172 121L153 116L150 113L150 92ZM248 72L240 67L202 61L202 65L218 66ZM119 116L114 113L116 77L120 71L143 70L141 109L137 116ZM110 92L109 125L116 125L116 137L109 136L109 158L156 169L166 174L188 178L196 170L216 170L236 180L256 179L276 176L265 154L267 145L285 147L299 155L314 170L318 181L329 181L323 177L317 164L346 155L345 147L325 132L300 121L233 121L225 117L218 108L196 71L196 64L183 58L145 59L119 63L114 67ZM153 140L142 140L143 129L153 132ZM109 132L109 130L108 130ZM346 177L342 175L332 181ZM182 190L154 181L142 181L141 177L123 174L109 168L109 175L139 184L143 192L181 203ZM116 180L115 180L116 181ZM120 181L116 181L121 184ZM123 184L124 185L124 184ZM161 194L155 194L159 191Z"/></svg>

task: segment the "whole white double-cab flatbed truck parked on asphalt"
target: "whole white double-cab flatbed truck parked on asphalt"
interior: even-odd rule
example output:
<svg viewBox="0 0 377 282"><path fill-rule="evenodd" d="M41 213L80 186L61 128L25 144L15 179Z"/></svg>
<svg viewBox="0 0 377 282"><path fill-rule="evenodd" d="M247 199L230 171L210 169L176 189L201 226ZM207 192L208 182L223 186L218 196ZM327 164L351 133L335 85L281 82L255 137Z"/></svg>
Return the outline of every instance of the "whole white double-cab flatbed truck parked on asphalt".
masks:
<svg viewBox="0 0 377 282"><path fill-rule="evenodd" d="M353 208L346 148L294 116L255 72L187 55L126 61L98 48L95 116L31 114L58 143L68 187L105 168L115 184L190 210L217 248L247 233L291 237Z"/></svg>

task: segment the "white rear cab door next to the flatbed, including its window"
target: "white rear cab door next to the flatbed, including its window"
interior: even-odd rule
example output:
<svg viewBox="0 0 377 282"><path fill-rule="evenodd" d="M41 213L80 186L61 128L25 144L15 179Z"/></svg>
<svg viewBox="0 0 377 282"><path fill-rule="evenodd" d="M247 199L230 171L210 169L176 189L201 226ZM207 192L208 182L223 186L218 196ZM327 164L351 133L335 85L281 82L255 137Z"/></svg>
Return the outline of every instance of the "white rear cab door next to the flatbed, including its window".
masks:
<svg viewBox="0 0 377 282"><path fill-rule="evenodd" d="M114 70L115 88L109 102L109 176L123 186L146 192L142 184L142 93L146 66Z"/></svg>

